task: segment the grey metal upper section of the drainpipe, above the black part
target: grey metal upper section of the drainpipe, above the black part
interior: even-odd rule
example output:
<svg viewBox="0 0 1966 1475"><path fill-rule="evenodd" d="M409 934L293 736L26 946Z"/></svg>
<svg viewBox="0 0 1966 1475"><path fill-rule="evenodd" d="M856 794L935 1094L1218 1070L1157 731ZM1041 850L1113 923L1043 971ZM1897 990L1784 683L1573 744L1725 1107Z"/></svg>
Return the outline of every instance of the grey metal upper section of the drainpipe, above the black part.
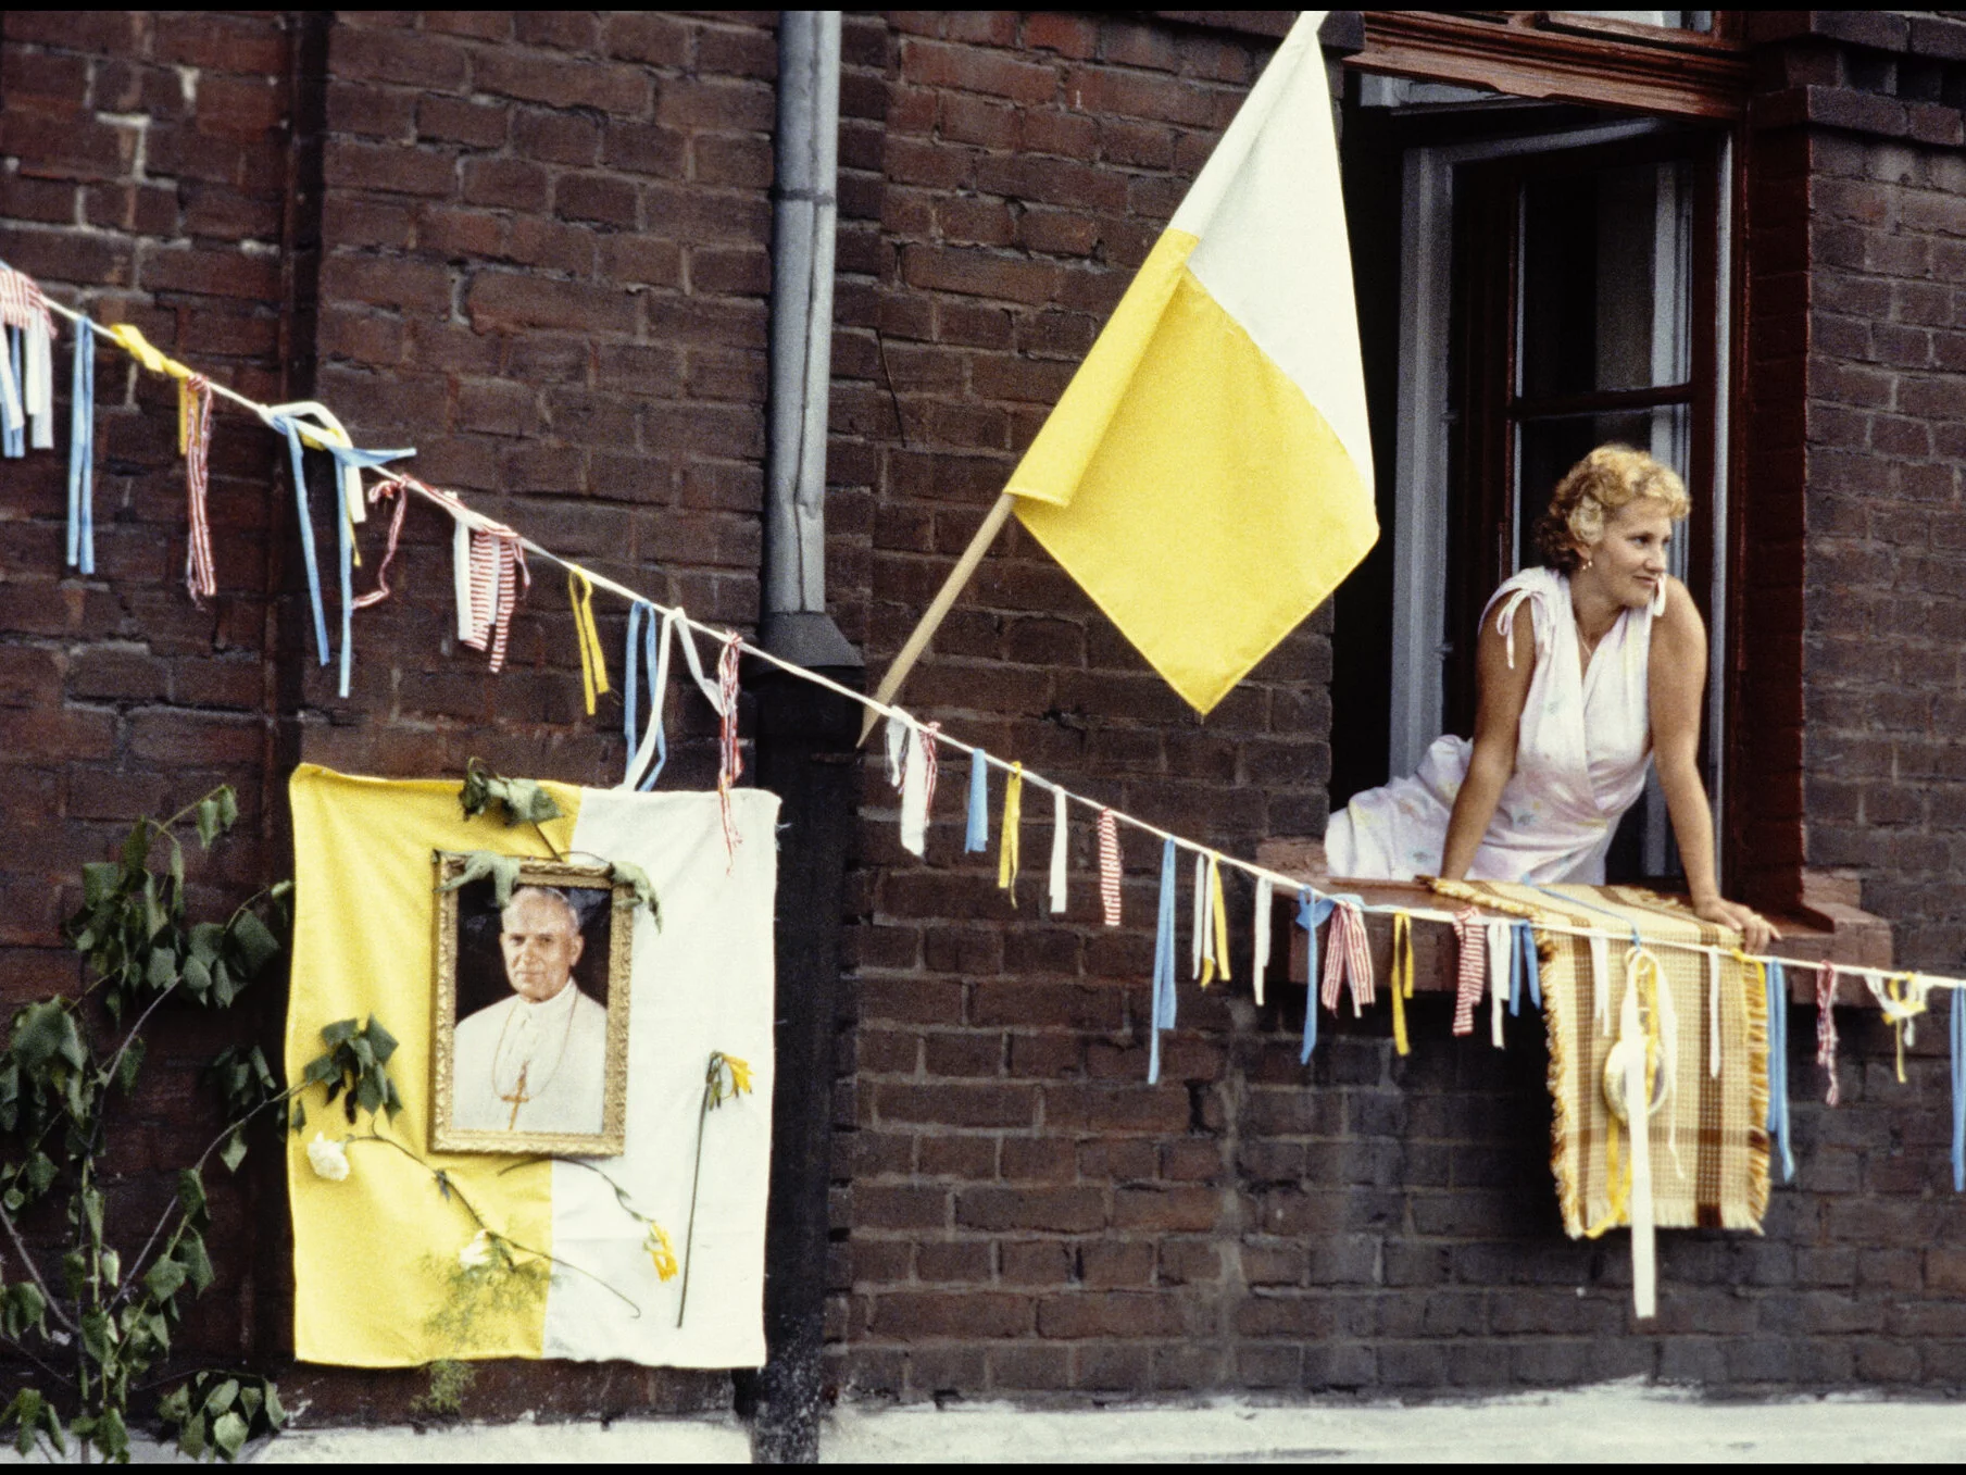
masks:
<svg viewBox="0 0 1966 1475"><path fill-rule="evenodd" d="M826 409L834 362L839 177L839 12L779 20L779 138L771 244L771 464L765 649L857 667L826 616Z"/></svg>

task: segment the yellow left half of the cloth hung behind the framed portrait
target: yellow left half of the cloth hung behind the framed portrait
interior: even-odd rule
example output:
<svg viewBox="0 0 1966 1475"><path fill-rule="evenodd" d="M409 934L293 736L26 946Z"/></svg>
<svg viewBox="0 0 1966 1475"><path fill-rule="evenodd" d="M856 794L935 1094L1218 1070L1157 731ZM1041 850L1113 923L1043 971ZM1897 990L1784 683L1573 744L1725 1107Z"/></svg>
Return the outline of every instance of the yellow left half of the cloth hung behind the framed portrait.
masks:
<svg viewBox="0 0 1966 1475"><path fill-rule="evenodd" d="M562 852L580 814L580 789L545 785L562 816L547 834ZM517 1158L429 1150L431 1036L434 997L436 897L433 850L497 850L547 856L531 826L511 828L486 814L466 822L458 785L354 779L303 765L293 802L295 926L293 989L287 1007L287 1080L320 1054L320 1029L376 1015L401 1042L389 1076L403 1095L381 1131L442 1168L505 1237L552 1251L552 1166L537 1162L499 1176ZM313 1172L315 1133L348 1137L340 1103L322 1090L303 1095L307 1125L287 1145L293 1202L293 1345L307 1363L411 1367L434 1357L539 1357L547 1316L541 1278L531 1296L503 1312L480 1314L470 1349L429 1328L450 1300L444 1270L476 1233L470 1213L444 1200L429 1168L381 1143L356 1143L350 1174L328 1182Z"/></svg>

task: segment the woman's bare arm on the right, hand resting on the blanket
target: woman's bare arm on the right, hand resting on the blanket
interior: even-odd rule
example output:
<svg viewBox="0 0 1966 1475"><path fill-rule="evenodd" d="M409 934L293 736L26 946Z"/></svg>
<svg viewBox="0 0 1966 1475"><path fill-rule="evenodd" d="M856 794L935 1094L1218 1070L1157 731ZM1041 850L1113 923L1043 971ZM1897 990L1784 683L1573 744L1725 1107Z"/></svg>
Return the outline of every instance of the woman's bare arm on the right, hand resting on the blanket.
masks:
<svg viewBox="0 0 1966 1475"><path fill-rule="evenodd" d="M1738 928L1750 952L1781 936L1754 911L1726 901L1714 879L1714 820L1701 781L1701 696L1706 688L1706 625L1677 578L1665 580L1665 614L1651 621L1651 755L1673 816L1693 911Z"/></svg>

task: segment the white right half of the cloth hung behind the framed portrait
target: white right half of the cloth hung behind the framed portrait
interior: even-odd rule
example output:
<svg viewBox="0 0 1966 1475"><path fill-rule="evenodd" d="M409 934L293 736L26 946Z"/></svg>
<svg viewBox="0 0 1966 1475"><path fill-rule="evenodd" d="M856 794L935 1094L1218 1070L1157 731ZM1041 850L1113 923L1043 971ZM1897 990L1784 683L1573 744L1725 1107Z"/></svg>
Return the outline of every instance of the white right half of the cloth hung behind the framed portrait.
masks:
<svg viewBox="0 0 1966 1475"><path fill-rule="evenodd" d="M602 1178L552 1166L552 1253L619 1286L637 1318L588 1276L554 1270L545 1357L623 1359L663 1367L757 1367L765 1361L765 1194L771 1176L773 899L779 796L731 793L739 846L723 850L718 796L580 796L574 850L633 861L663 903L635 920L629 1009L627 1150L594 1158L668 1231L680 1261L690 1223L696 1117L712 1050L749 1062L753 1093L704 1123L690 1300L682 1278L657 1280L643 1231ZM578 859L586 859L580 856Z"/></svg>

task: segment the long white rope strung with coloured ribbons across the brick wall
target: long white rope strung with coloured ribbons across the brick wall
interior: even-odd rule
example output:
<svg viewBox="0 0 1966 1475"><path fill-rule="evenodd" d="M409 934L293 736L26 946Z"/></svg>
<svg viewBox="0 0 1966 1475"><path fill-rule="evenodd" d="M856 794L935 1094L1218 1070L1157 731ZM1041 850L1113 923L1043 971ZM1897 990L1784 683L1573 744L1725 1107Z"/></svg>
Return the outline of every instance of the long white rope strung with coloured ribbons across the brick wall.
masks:
<svg viewBox="0 0 1966 1475"><path fill-rule="evenodd" d="M63 307L61 303L57 303L53 299L49 299L47 307L51 311L55 311L55 313L61 313L61 317L65 317L65 319L69 319L73 323L88 323L90 326L100 328L100 324L96 324L94 319L90 319L87 313L77 313L75 309ZM210 384L212 384L212 393L216 393L220 399L230 399L234 405L240 405L242 409L248 409L256 419L263 421L265 415L271 409L269 405L261 405L256 399L248 399L246 395L238 393L236 389L228 389L224 384L218 384L216 380L212 380ZM377 480L383 480L383 478L377 476ZM452 502L448 502L444 498L433 496L429 490L417 486L415 482L405 482L403 486L405 486L405 490L409 490L409 492L425 498L433 505L440 507L446 515L458 519L460 523L468 523L468 525L474 525L474 527L499 527L499 523L495 523L493 519L486 517L484 513L472 511L470 507L462 507L462 500L458 500L458 505L454 505ZM448 498L456 498L454 492L446 494L446 496ZM865 706L865 708L869 708L869 710L873 710L873 712L877 712L877 714L881 714L885 718L898 718L900 722L906 722L906 724L914 724L916 722L916 718L910 712L906 712L904 708L900 708L900 706L895 706L891 702L879 702L873 696L867 696L865 692L857 692L851 686L843 686L841 682L832 680L830 677L822 677L818 671L810 671L810 669L806 669L802 665L786 661L784 657L773 655L771 651L761 649L757 645L751 645L749 641L737 637L735 631L720 629L718 625L710 625L710 623L704 623L702 620L694 620L688 614L684 614L680 606L672 608L672 606L661 604L657 600L651 600L647 594L639 594L639 592L631 590L627 584L617 584L615 580L607 578L606 574L598 574L592 568L586 568L584 564L574 562L572 559L562 559L552 549L541 547L539 543L535 543L529 537L521 535L519 543L525 547L527 553L531 553L535 557L541 557L547 562L554 562L554 564L558 564L562 568L578 568L582 574L586 574L590 580L594 580L594 588L607 590L609 594L615 594L617 598L629 600L631 604L647 604L647 606L655 608L657 614L661 614L665 618L672 618L678 625L684 627L684 631L700 629L706 635L710 635L712 639L716 639L720 645L723 641L735 639L737 641L737 649L741 649L745 655L749 655L749 657L753 657L757 661L763 661L765 665L777 667L779 671L784 671L786 675L798 677L800 680L810 680L814 686L824 686L826 690L834 692L836 696L845 696L851 702L859 702L861 706ZM684 645L688 645L688 637L684 637ZM1011 759L997 757L995 753L983 753L983 749L975 747L973 743L965 743L959 738L952 738L946 732L938 732L936 738L938 738L938 741L948 743L950 747L954 747L957 753L971 753L971 755L981 753L983 761L989 767L1003 769L1005 773L1009 773L1011 767L1012 767ZM1298 879L1294 875L1286 875L1284 871L1272 871L1266 865L1258 865L1254 861L1239 859L1237 856L1227 856L1227 854L1223 854L1219 850L1203 846L1197 840L1189 840L1187 836L1178 836L1172 830L1162 830L1158 824L1150 824L1150 822L1146 822L1146 820L1142 820L1142 818L1138 818L1134 814L1128 814L1125 810L1113 808L1111 804L1105 804L1105 802L1101 802L1097 798L1087 798L1085 795L1073 793L1071 789L1066 789L1064 785L1054 783L1052 779L1044 779L1038 773L1032 773L1028 769L1024 771L1024 781L1026 783L1038 783L1038 785L1042 785L1046 789L1052 789L1056 795L1064 796L1068 802L1081 804L1083 808L1089 808L1095 814L1111 810L1113 818L1119 820L1121 824L1127 824L1127 826L1130 826L1134 830L1140 830L1142 834L1150 834L1156 840L1172 840L1180 850L1187 850L1187 852L1191 852L1195 856L1213 856L1219 863L1229 865L1231 869L1243 871L1243 875L1250 877L1252 881L1268 881L1272 887L1282 885L1282 887L1288 889L1290 895L1296 895L1296 893L1301 893L1301 891L1309 891L1313 897L1329 897L1329 895L1333 895L1329 891L1319 891L1317 887L1313 887L1313 885L1309 885L1309 883L1305 883L1305 881L1301 881L1301 879ZM1453 920L1455 920L1453 913L1441 911L1439 907L1396 907L1396 905L1386 905L1386 903L1362 903L1359 909L1362 913L1370 913L1374 916L1394 916L1398 913L1406 913L1408 916L1412 916L1416 920L1435 922L1439 926L1453 926ZM1626 942L1628 940L1628 934L1624 934L1624 932L1610 932L1606 928L1596 928L1596 926L1577 926L1573 922L1537 920L1537 922L1533 922L1533 926L1539 932L1555 932L1559 936L1606 938L1610 942ZM1681 952L1697 952L1697 954L1706 954L1710 958L1736 958L1736 956L1744 956L1750 962L1762 962L1762 964L1779 962L1783 968L1809 968L1809 970L1815 970L1815 968L1822 966L1821 960L1781 958L1781 956L1773 956L1773 954L1736 954L1736 950L1728 948L1728 946L1714 946L1714 944L1705 944L1705 942L1681 942L1677 938L1646 938L1646 946L1649 946L1649 948L1677 948ZM1874 970L1866 970L1866 968L1858 968L1858 966L1846 966L1846 964L1834 964L1834 962L1828 964L1828 968L1834 974L1838 974L1838 975L1842 975L1842 974L1856 974L1858 977L1864 977L1866 972L1874 972ZM1931 974L1919 974L1917 979L1925 987L1933 987L1933 989L1966 989L1966 979L1958 979L1958 977L1935 977Z"/></svg>

